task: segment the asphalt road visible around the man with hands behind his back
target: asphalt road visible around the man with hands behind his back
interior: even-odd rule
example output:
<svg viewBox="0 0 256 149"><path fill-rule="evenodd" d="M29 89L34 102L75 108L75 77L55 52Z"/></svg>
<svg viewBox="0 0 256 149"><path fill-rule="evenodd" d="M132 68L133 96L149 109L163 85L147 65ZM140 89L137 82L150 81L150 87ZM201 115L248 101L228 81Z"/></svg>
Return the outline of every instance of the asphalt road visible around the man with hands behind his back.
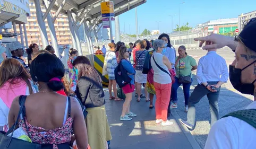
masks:
<svg viewBox="0 0 256 149"><path fill-rule="evenodd" d="M198 60L206 55L207 51L202 49L187 50L187 54ZM227 66L231 64L234 60L234 52L229 48L218 49L217 54L224 57L227 62ZM195 74L196 71L193 71ZM191 85L191 93L194 87L198 84L195 76L193 76L193 83ZM244 109L253 101L251 95L245 95L234 90L232 84L229 82L221 86L220 96L219 96L219 115L220 118L229 112ZM196 105L196 127L191 134L194 136L195 140L198 142L201 148L204 148L206 143L207 135L210 130L210 112L209 112L209 102L207 97L203 97L201 101ZM184 95L182 90L182 85L178 89L178 108L176 112L182 119L186 120L186 113L184 112Z"/></svg>

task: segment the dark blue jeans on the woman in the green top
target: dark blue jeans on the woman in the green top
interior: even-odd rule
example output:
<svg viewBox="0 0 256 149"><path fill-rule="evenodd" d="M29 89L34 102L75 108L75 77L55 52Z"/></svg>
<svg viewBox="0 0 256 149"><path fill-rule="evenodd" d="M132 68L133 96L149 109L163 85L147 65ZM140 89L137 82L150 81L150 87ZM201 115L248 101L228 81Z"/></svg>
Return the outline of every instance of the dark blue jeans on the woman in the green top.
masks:
<svg viewBox="0 0 256 149"><path fill-rule="evenodd" d="M191 83L193 82L193 79L191 78ZM170 96L170 98L172 98L173 103L177 103L177 90L178 87L180 87L180 85L182 84L183 86L183 93L184 93L184 97L185 97L185 106L188 105L187 101L189 101L189 97L190 97L190 86L191 83L179 83L178 82L178 78L175 76L175 83L172 85L172 95Z"/></svg>

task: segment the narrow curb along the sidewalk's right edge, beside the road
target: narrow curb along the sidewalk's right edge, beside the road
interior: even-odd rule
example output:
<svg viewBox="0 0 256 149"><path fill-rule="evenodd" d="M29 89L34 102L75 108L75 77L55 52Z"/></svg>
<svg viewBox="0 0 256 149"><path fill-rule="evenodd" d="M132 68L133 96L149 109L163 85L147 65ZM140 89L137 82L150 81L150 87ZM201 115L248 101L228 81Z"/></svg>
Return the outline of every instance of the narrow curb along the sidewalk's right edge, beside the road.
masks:
<svg viewBox="0 0 256 149"><path fill-rule="evenodd" d="M199 146L199 144L197 143L197 141L195 141L194 137L192 136L192 134L190 133L189 129L187 129L186 126L181 124L181 117L178 115L178 113L176 112L176 110L171 109L170 113L173 115L173 117L176 119L178 126L180 126L180 128L182 129L182 132L185 134L187 140L189 141L189 143L191 144L193 149L201 149L201 147Z"/></svg>

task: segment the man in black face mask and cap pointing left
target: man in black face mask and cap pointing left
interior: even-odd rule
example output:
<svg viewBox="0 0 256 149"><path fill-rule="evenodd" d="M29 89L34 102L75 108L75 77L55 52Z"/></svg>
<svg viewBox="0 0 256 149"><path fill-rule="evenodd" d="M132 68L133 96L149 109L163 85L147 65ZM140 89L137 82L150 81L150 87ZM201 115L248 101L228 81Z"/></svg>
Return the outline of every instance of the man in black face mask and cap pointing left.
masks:
<svg viewBox="0 0 256 149"><path fill-rule="evenodd" d="M239 36L234 38L219 34L196 38L200 40L200 47L204 41L211 41L203 49L223 48L228 46L235 52L235 60L229 66L229 80L237 91L254 95L252 102L246 109L256 110L256 46L255 46L256 18L248 21ZM248 111L248 110L247 110ZM256 146L255 113L249 119L241 117L221 118L212 126L204 148L206 149L251 149Z"/></svg>

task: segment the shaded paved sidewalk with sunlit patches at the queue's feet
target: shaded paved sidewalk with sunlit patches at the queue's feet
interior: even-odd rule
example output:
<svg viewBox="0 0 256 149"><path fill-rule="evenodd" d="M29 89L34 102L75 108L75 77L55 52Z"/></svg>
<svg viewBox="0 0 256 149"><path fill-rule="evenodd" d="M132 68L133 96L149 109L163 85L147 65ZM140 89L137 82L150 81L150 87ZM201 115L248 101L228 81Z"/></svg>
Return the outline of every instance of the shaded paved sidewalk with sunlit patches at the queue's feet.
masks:
<svg viewBox="0 0 256 149"><path fill-rule="evenodd" d="M175 110L168 118L174 124L162 127L155 123L155 108L149 109L149 102L141 99L137 102L133 95L131 111L138 116L131 121L121 121L124 101L108 100L108 91L105 91L106 112L113 139L112 149L167 149L167 148L200 148L187 128L181 126L180 116ZM155 100L154 100L155 101Z"/></svg>

